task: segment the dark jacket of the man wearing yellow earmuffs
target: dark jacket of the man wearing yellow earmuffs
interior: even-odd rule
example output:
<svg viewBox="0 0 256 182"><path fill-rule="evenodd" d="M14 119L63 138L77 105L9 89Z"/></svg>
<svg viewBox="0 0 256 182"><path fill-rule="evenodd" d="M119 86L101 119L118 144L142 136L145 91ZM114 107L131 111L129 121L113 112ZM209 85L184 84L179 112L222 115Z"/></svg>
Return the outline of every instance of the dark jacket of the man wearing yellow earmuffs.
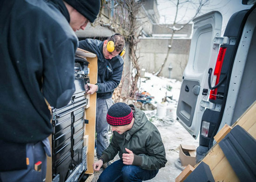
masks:
<svg viewBox="0 0 256 182"><path fill-rule="evenodd" d="M97 97L108 99L112 97L115 88L119 85L123 72L123 58L115 56L105 59L102 53L103 42L87 38L79 41L79 48L88 50L98 57L98 91Z"/></svg>

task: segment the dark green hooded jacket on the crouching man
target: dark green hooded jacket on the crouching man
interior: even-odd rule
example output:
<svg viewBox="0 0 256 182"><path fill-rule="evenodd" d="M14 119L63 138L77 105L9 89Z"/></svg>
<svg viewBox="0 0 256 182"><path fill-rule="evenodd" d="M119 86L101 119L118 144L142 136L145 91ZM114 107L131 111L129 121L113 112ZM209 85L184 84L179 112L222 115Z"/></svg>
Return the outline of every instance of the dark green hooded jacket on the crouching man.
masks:
<svg viewBox="0 0 256 182"><path fill-rule="evenodd" d="M145 113L133 105L129 106L132 110L135 110L134 125L121 135L114 132L111 143L102 153L103 162L114 159L118 152L122 160L122 154L127 153L125 150L127 148L134 153L133 165L148 170L164 167L167 159L159 131L148 121Z"/></svg>

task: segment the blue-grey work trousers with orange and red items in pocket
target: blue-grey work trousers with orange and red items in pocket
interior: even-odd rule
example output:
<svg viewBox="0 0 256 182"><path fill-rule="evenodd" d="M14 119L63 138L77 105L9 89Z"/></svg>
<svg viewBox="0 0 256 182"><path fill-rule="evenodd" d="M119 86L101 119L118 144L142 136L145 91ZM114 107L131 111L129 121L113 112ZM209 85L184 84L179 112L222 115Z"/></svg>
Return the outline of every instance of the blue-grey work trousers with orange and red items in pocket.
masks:
<svg viewBox="0 0 256 182"><path fill-rule="evenodd" d="M27 169L0 172L0 182L45 182L46 154L51 155L48 138L26 144ZM35 170L35 164L38 162L41 162L41 169Z"/></svg>

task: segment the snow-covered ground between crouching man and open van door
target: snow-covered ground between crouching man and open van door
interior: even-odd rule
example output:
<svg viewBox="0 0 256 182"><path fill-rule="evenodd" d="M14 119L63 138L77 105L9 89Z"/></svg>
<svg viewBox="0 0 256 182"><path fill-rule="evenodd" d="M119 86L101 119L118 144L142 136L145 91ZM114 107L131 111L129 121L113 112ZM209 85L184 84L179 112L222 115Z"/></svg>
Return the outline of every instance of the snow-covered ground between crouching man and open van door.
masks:
<svg viewBox="0 0 256 182"><path fill-rule="evenodd" d="M162 141L165 146L166 158L168 162L166 166L159 170L155 178L147 182L175 182L175 178L182 172L175 167L175 161L179 158L179 145L192 144L198 146L199 138L196 140L185 130L182 125L176 121L176 108L179 99L181 82L174 79L157 77L150 73L145 73L145 77L141 78L140 92L148 92L155 98L151 103L158 107L152 111L143 111L148 119L155 124L161 133ZM171 88L171 89L170 89ZM162 99L167 96L167 101L162 103ZM160 107L161 106L161 107ZM164 108L171 108L171 112L167 112L167 116L159 115L163 113ZM158 111L158 112L157 112ZM114 160L117 160L116 157ZM96 182L98 176L102 172L94 173L93 182Z"/></svg>

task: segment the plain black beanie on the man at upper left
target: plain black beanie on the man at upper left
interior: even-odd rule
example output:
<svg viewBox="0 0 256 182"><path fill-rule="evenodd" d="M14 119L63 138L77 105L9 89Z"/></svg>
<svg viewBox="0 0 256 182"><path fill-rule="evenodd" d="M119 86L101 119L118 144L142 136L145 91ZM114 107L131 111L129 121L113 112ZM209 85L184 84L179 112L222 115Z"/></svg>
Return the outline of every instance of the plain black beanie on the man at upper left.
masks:
<svg viewBox="0 0 256 182"><path fill-rule="evenodd" d="M100 0L64 0L72 6L76 11L81 13L91 23L97 18L100 11L101 1Z"/></svg>

